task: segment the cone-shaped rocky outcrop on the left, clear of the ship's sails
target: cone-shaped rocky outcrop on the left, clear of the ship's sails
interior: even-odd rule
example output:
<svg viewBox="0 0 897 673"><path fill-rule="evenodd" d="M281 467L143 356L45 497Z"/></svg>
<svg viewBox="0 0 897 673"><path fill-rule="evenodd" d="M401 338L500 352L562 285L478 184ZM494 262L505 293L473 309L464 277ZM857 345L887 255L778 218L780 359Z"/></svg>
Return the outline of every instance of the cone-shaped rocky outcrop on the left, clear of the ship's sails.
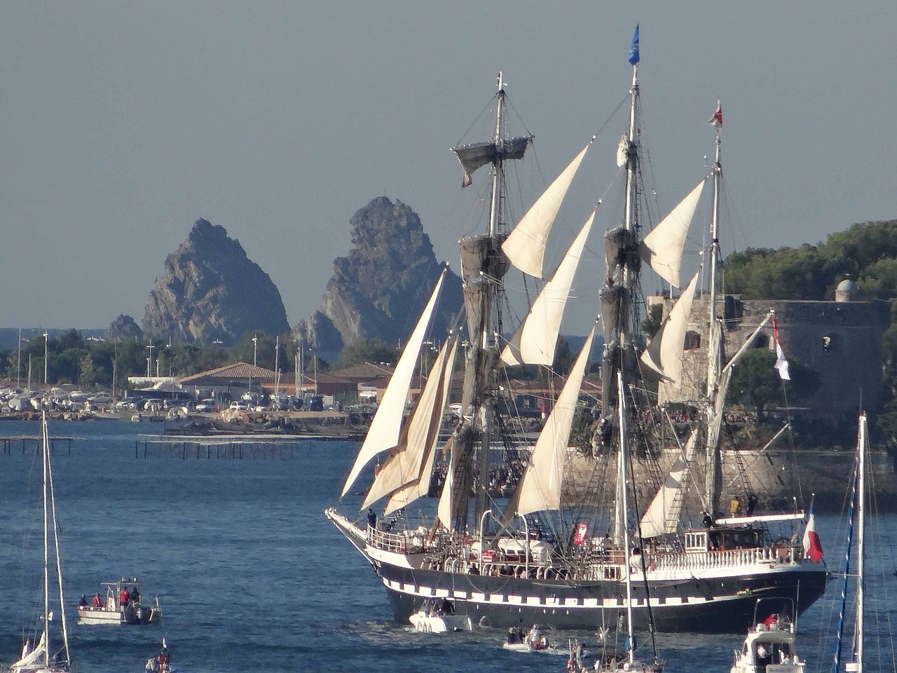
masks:
<svg viewBox="0 0 897 673"><path fill-rule="evenodd" d="M152 286L144 333L173 343L232 345L255 330L290 331L280 292L224 227L196 220Z"/></svg>

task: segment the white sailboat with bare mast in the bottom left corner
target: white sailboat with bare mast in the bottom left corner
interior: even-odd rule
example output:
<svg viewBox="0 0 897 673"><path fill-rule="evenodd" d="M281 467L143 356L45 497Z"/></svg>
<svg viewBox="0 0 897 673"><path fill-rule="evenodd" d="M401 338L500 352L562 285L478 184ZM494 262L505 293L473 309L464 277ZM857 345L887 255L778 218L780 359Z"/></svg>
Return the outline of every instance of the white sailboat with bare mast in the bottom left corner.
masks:
<svg viewBox="0 0 897 673"><path fill-rule="evenodd" d="M59 529L57 526L56 498L53 492L53 468L50 462L50 448L47 431L47 413L42 414L43 429L43 524L44 524L44 572L43 599L44 609L41 616L42 627L36 645L26 641L22 647L22 656L10 667L10 673L66 673L72 661L68 647L68 628L65 623L65 597L62 590L62 568L59 560ZM52 535L52 539L50 536ZM53 559L50 559L50 552ZM56 578L59 586L59 621L61 624L62 647L57 649L50 639L50 622L53 612L50 610L50 564L55 564Z"/></svg>

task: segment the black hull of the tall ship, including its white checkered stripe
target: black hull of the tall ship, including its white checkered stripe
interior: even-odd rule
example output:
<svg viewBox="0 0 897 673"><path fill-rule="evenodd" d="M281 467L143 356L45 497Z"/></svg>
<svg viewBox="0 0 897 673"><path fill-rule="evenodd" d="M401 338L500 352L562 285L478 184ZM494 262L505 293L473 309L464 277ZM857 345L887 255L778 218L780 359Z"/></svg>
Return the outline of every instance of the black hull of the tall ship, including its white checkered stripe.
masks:
<svg viewBox="0 0 897 673"><path fill-rule="evenodd" d="M618 581L552 581L483 577L415 570L374 562L396 621L408 623L427 601L453 601L455 612L475 625L533 624L595 630L614 625L625 612L625 585ZM660 632L740 634L753 620L757 599L792 599L803 612L819 599L828 573L816 566L793 571L665 582L650 588L650 607ZM648 629L643 586L632 588L633 622Z"/></svg>

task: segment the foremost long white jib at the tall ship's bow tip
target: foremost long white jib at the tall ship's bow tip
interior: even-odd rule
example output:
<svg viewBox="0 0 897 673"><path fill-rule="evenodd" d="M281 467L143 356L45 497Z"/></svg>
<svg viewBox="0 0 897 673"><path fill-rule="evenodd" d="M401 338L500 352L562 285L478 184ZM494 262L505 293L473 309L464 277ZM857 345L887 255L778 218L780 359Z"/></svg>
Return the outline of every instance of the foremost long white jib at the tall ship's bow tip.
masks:
<svg viewBox="0 0 897 673"><path fill-rule="evenodd" d="M349 489L355 483L355 479L361 473L361 469L370 462L370 459L381 451L392 449L398 443L398 435L402 426L402 413L405 410L405 399L408 397L408 389L414 376L414 365L417 363L417 356L421 351L423 337L427 333L427 328L430 327L430 319L436 307L436 302L439 300L445 275L446 272L443 269L440 279L433 289L430 302L427 303L421 318L418 319L417 326L408 339L408 344L405 345L405 351L403 351L402 357L399 358L398 364L396 364L396 371L393 372L386 392L383 393L383 399L380 401L374 420L370 422L368 434L364 438L364 443L361 444L358 456L355 457L349 476L346 477L343 493L340 497L344 497L349 492Z"/></svg>

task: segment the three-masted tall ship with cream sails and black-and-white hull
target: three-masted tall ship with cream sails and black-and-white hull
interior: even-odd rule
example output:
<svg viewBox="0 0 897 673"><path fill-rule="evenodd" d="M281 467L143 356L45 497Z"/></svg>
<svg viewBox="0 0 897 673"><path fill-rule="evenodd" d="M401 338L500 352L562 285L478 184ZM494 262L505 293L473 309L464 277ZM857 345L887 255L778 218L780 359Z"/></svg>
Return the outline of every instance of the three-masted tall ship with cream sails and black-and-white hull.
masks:
<svg viewBox="0 0 897 673"><path fill-rule="evenodd" d="M432 343L428 329L443 273L396 364L340 503L325 512L377 573L397 621L407 623L419 609L440 606L495 627L595 629L625 618L642 629L653 624L661 631L739 633L757 599L787 599L804 610L825 590L824 565L801 545L803 511L756 511L746 495L745 510L727 503L721 511L719 435L728 382L771 315L727 360L720 319L712 310L719 285L721 109L711 120L718 123L709 175L642 235L649 229L642 206L650 190L642 186L639 60L636 28L629 117L616 152L621 207L605 233L603 283L589 293L593 310L600 305L600 320L532 447L532 441L515 440L508 368L551 368L598 207L513 333L505 275L515 267L543 277L546 240L591 141L514 226L506 172L524 158L533 136L509 133L501 73L492 139L453 148L465 185L475 171L489 169L481 191L489 206L487 229L459 241L466 325L448 335L405 413L422 347ZM701 272L685 284L647 341L640 330L640 281L643 267L649 267L671 286L681 286L684 244L705 183L713 190L711 243L704 256L710 268L703 274L710 293L710 343L701 373L707 382L691 422L673 423L652 391L658 381L675 383L684 375L686 327ZM599 324L602 386L600 400L593 402L583 383ZM448 388L461 359L457 423L442 441ZM578 439L571 441L574 427ZM427 500L434 465L445 469L444 485L438 499ZM498 480L508 488L497 488Z"/></svg>

